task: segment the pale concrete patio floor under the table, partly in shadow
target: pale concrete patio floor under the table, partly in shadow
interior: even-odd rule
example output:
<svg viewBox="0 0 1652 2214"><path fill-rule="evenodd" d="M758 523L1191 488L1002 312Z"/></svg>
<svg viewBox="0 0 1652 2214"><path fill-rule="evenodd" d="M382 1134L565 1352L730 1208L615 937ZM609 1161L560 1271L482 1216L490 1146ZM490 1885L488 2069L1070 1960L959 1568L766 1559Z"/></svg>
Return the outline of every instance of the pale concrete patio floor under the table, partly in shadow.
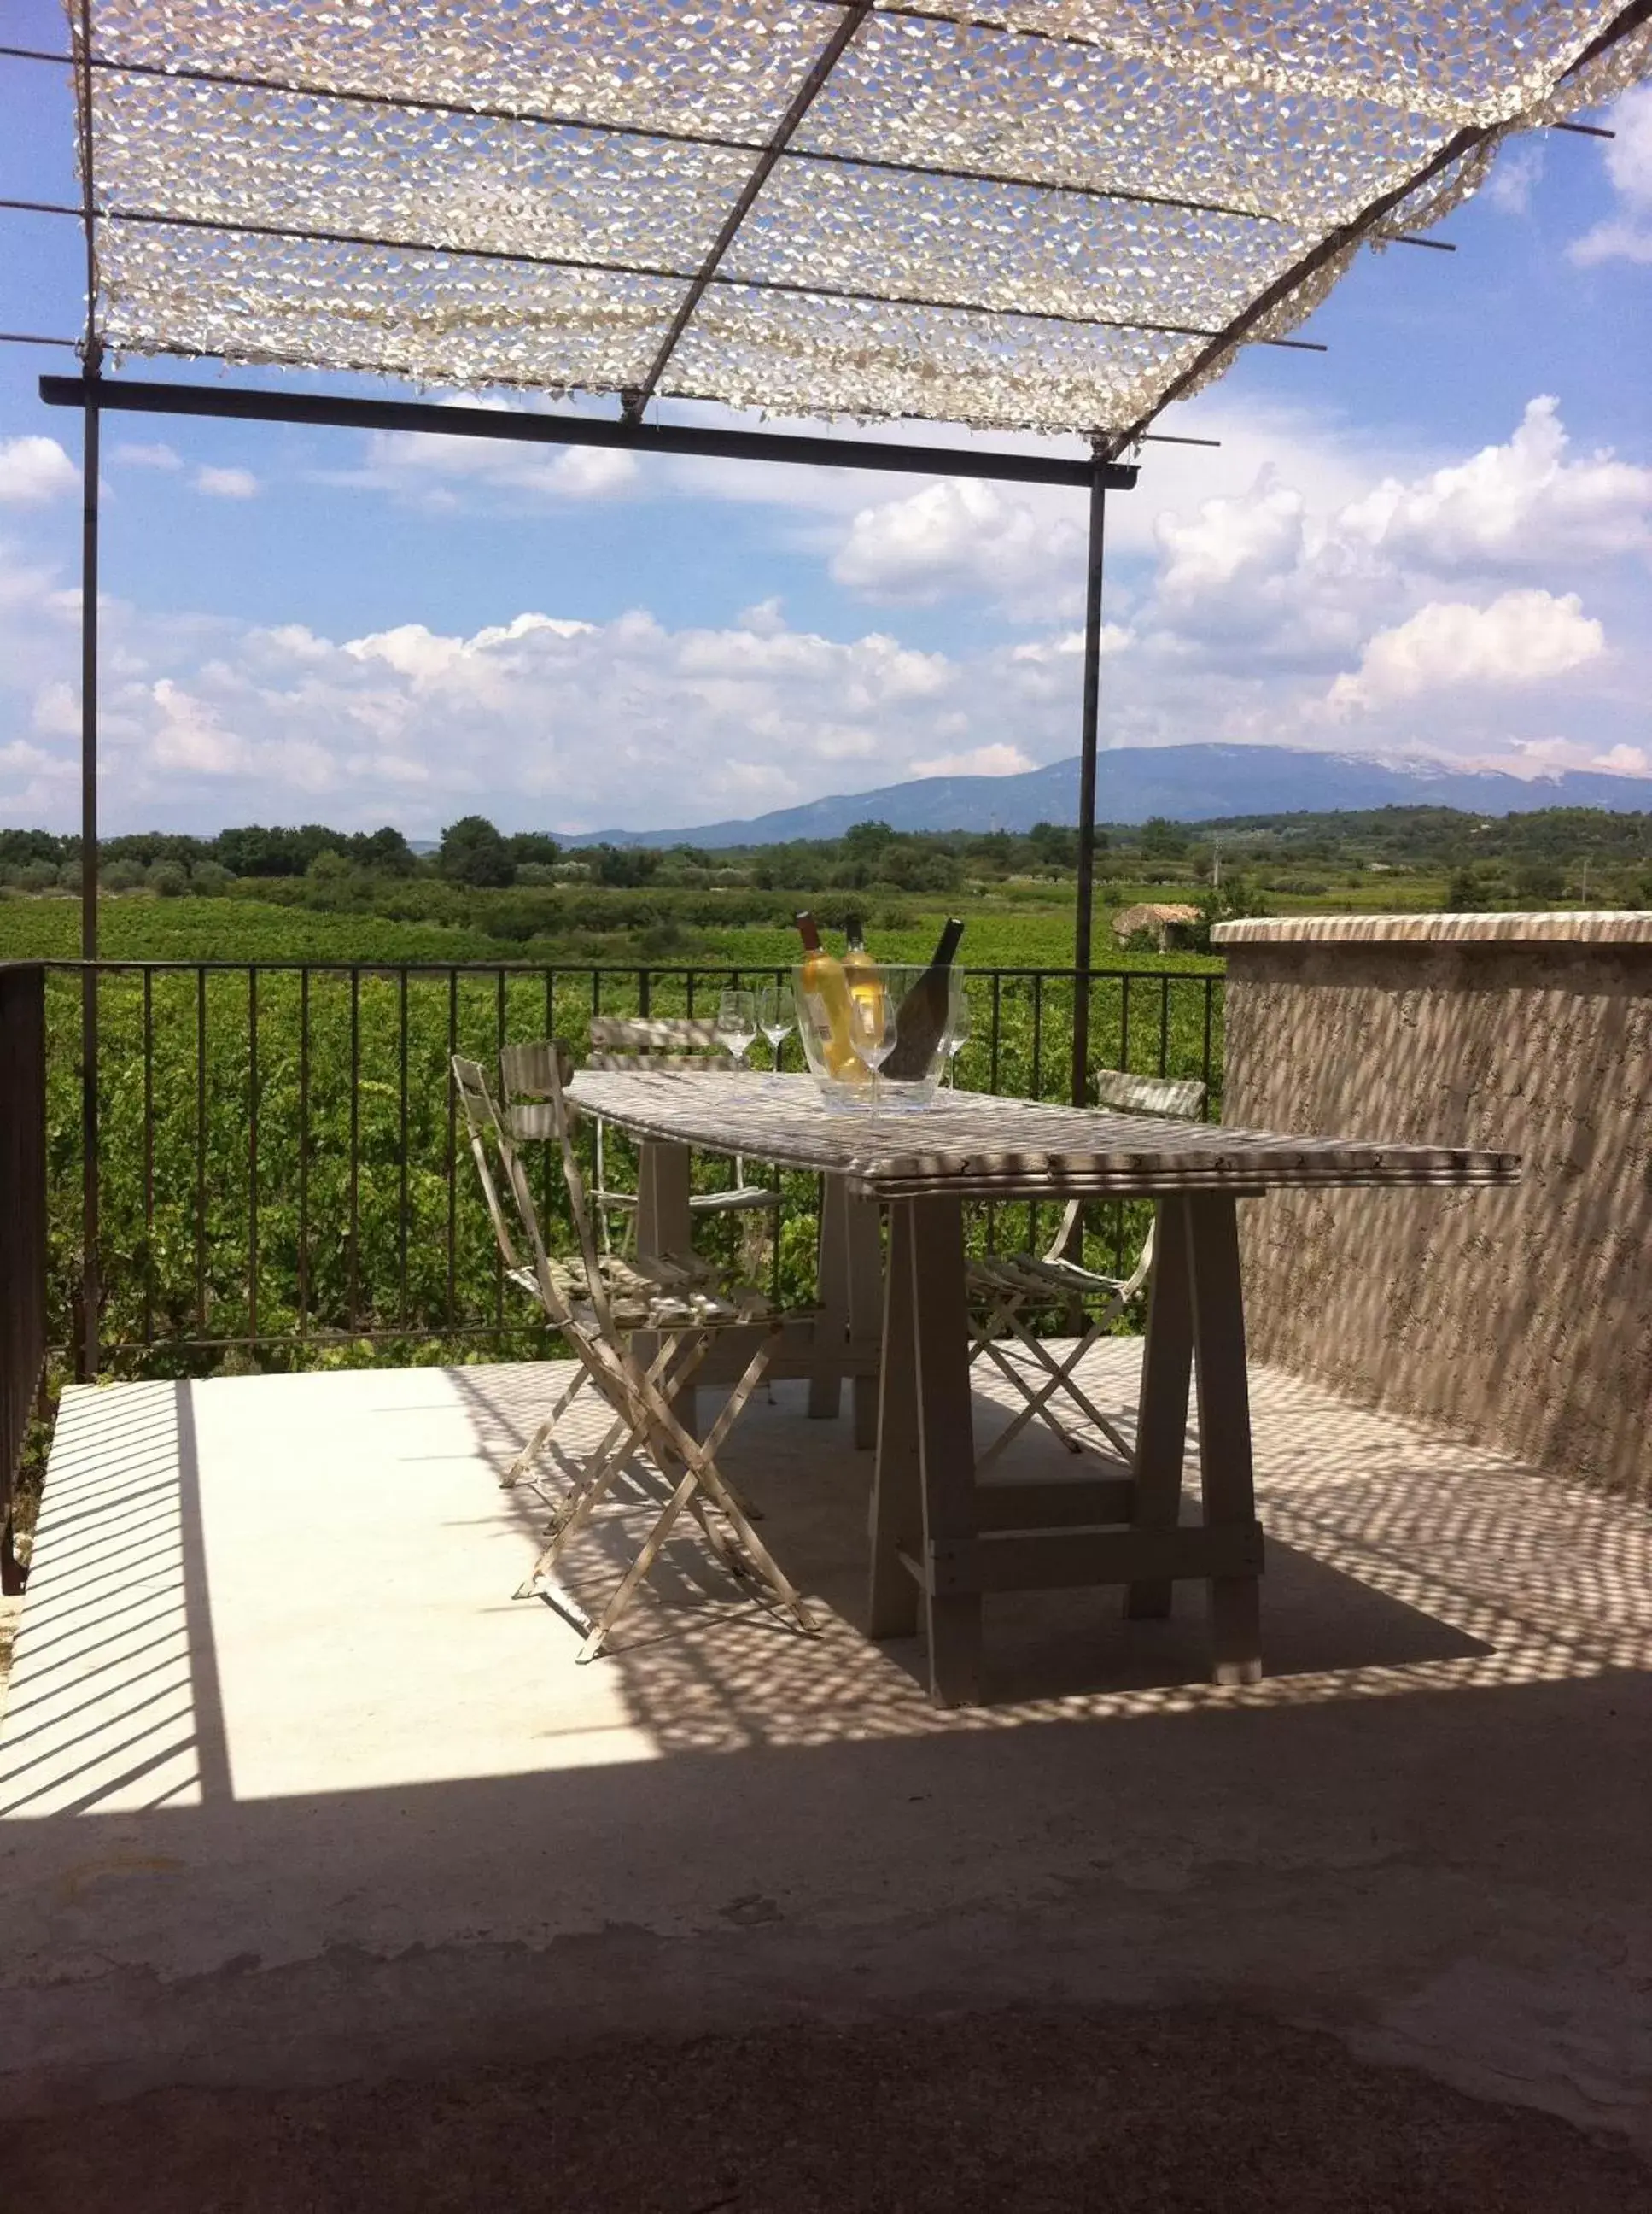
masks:
<svg viewBox="0 0 1652 2214"><path fill-rule="evenodd" d="M725 1466L823 1634L683 1541L577 1669L511 1599L544 1508L495 1486L553 1382L64 1397L0 1729L2 2114L1216 2006L1652 2154L1643 1512L1263 1370L1267 1680L1203 1680L1194 1587L1137 1625L1026 1596L993 1705L935 1714L916 1645L854 1627L869 1457L801 1386ZM586 1596L637 1521L584 1541Z"/></svg>

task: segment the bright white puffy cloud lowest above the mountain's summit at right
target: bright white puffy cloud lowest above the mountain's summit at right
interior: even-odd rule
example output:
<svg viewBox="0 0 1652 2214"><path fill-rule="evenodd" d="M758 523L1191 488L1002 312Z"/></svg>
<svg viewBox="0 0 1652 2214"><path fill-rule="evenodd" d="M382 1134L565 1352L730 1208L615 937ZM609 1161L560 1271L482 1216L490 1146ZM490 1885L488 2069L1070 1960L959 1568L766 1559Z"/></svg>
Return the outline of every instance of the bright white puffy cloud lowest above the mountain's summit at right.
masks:
<svg viewBox="0 0 1652 2214"><path fill-rule="evenodd" d="M1378 631L1356 675L1331 686L1331 711L1384 706L1451 684L1535 684L1595 660L1601 624L1577 593L1506 591L1491 607L1431 600L1407 622Z"/></svg>

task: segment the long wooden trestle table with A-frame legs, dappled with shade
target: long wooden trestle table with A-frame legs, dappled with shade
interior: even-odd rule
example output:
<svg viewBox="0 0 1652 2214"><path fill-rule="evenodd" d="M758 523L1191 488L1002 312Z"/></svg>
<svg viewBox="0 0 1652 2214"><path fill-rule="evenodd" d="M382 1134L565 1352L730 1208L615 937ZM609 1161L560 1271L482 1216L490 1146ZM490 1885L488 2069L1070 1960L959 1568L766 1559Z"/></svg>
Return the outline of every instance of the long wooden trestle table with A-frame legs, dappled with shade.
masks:
<svg viewBox="0 0 1652 2214"><path fill-rule="evenodd" d="M1214 1676L1254 1683L1263 1530L1236 1200L1278 1187L1457 1189L1519 1178L1515 1153L1289 1138L975 1092L942 1092L922 1114L832 1116L807 1076L582 1072L571 1096L644 1145L644 1249L688 1238L690 1149L820 1171L823 1291L854 1308L860 1339L876 1209L889 1211L867 1627L874 1638L911 1636L922 1616L942 1707L980 1696L986 1592L1088 1583L1126 1585L1137 1618L1168 1614L1172 1583L1207 1583ZM1075 1193L1159 1202L1135 1470L977 1483L962 1202ZM1181 1523L1194 1373L1203 1521Z"/></svg>

